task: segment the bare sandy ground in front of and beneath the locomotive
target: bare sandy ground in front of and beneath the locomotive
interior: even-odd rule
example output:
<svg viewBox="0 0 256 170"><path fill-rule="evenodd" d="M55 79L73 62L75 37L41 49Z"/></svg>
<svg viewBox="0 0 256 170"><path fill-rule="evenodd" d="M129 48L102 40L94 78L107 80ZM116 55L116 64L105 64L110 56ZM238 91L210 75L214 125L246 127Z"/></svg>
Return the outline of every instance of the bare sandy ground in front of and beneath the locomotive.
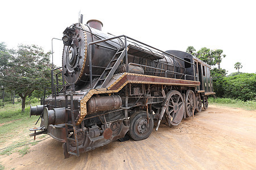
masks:
<svg viewBox="0 0 256 170"><path fill-rule="evenodd" d="M256 169L256 111L210 105L178 126L160 125L143 141L115 141L64 159L61 143L48 138L0 163L5 169Z"/></svg>

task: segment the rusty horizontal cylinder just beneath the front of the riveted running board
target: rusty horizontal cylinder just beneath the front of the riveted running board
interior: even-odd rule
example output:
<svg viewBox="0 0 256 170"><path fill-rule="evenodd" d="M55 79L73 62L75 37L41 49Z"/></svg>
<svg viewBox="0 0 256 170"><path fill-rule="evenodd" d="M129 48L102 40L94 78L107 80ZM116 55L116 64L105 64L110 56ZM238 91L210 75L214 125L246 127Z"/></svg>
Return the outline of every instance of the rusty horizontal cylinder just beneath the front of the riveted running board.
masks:
<svg viewBox="0 0 256 170"><path fill-rule="evenodd" d="M100 111L110 111L119 109L122 106L122 99L118 95L114 96L96 96L87 102L88 113Z"/></svg>

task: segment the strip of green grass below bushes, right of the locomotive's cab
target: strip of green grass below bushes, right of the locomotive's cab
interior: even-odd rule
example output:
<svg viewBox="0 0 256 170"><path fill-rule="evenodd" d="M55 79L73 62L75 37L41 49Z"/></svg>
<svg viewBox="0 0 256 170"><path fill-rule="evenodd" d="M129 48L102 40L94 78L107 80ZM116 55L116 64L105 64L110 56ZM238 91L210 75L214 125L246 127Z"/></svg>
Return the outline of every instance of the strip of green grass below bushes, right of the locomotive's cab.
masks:
<svg viewBox="0 0 256 170"><path fill-rule="evenodd" d="M242 101L239 99L229 99L229 98L216 98L209 97L209 104L221 105L233 108L242 108L249 111L256 110L256 101Z"/></svg>

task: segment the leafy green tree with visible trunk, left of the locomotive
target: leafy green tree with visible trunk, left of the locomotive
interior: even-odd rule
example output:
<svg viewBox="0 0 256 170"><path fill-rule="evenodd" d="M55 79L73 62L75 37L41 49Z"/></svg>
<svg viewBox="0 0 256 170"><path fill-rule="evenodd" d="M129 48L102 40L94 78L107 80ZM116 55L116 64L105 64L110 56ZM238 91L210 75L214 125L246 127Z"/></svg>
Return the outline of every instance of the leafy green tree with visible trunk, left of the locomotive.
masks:
<svg viewBox="0 0 256 170"><path fill-rule="evenodd" d="M14 90L22 98L24 112L26 97L35 90L43 89L51 82L50 52L44 53L36 45L18 45L0 77L3 85Z"/></svg>

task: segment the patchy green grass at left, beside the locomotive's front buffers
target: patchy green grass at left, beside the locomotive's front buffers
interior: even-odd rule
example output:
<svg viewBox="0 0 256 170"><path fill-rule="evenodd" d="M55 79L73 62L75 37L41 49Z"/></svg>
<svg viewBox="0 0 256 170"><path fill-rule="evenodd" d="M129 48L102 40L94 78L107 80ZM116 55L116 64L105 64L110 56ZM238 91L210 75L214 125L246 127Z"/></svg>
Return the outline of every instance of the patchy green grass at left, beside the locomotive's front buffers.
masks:
<svg viewBox="0 0 256 170"><path fill-rule="evenodd" d="M34 104L36 105L36 104ZM26 106L25 112L21 112L20 104L6 104L4 108L0 108L0 149L7 147L0 151L0 155L10 155L13 152L19 152L20 155L25 155L29 146L23 146L28 140L30 131L38 116L29 116L30 106ZM40 121L37 126L40 125ZM13 140L11 142L11 140ZM31 141L30 141L31 142ZM31 143L35 145L35 142Z"/></svg>

